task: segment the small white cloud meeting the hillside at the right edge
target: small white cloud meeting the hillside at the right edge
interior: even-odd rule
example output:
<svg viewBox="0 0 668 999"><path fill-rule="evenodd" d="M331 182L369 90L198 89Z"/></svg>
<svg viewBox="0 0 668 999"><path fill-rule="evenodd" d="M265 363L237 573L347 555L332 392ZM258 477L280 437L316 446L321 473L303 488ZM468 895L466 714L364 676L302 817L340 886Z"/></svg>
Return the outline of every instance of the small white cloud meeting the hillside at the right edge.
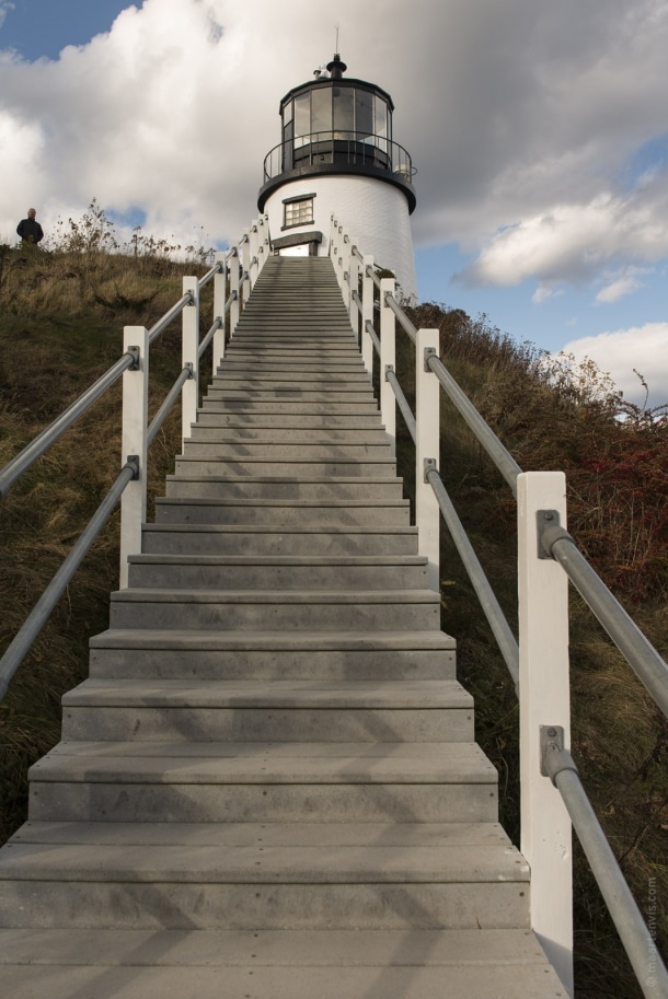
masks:
<svg viewBox="0 0 668 999"><path fill-rule="evenodd" d="M647 382L650 407L668 402L668 323L646 323L583 337L566 344L564 353L573 353L578 362L591 358L631 402L642 405L645 400L645 390L635 372Z"/></svg>

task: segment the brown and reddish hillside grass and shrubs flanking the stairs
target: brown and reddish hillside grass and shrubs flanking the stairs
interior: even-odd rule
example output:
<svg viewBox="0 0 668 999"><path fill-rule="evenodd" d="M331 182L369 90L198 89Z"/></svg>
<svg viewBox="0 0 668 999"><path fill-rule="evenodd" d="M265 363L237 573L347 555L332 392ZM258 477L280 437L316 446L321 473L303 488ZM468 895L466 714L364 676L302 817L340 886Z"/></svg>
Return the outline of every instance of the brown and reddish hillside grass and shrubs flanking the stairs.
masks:
<svg viewBox="0 0 668 999"><path fill-rule="evenodd" d="M122 353L123 326L150 326L181 297L206 254L136 234L118 247L93 202L47 252L0 247L0 466ZM204 305L203 316L210 317ZM661 654L668 652L668 421L624 403L594 365L573 370L518 345L483 316L427 304L441 358L523 469L563 469L569 531ZM210 322L210 318L209 318ZM205 325L206 322L203 318ZM178 323L151 353L153 411L181 368ZM398 333L400 376L412 347ZM206 363L206 362L205 362ZM403 375L402 375L403 369ZM206 367L205 367L206 371ZM206 381L206 376L204 379ZM81 533L120 467L115 386L0 502L0 652ZM620 419L620 416L623 419ZM178 450L172 414L150 455L151 495ZM515 503L445 398L441 474L512 626ZM412 479L400 429L400 472ZM476 698L477 737L499 770L502 818L518 840L517 702L506 667L442 532L444 628L458 640L462 683ZM102 532L0 706L0 839L24 821L26 770L59 737L60 697L88 669L88 640L117 586L117 515ZM577 595L572 600L573 754L641 910L665 951L668 897L668 724ZM586 863L576 856L578 997L640 995ZM664 921L661 921L664 920Z"/></svg>

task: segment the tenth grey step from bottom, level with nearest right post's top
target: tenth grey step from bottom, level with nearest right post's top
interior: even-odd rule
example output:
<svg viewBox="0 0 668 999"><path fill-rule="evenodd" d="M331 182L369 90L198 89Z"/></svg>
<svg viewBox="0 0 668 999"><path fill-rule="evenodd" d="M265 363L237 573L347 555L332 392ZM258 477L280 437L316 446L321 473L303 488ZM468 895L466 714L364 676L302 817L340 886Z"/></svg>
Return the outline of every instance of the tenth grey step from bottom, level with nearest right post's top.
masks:
<svg viewBox="0 0 668 999"><path fill-rule="evenodd" d="M199 497L200 499L243 500L302 500L322 502L327 500L361 500L388 502L403 498L403 480L400 478L312 478L295 479L278 476L215 476L168 475L169 497Z"/></svg>

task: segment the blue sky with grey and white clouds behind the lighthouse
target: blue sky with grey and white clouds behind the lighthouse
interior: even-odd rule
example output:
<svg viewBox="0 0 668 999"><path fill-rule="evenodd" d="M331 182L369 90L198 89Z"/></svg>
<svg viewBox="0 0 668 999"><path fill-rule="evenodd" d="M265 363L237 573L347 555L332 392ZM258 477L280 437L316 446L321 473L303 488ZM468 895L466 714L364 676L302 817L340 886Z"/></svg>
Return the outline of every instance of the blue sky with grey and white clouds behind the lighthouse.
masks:
<svg viewBox="0 0 668 999"><path fill-rule="evenodd" d="M0 0L0 241L92 198L238 239L337 31L418 171L418 298L668 402L668 0Z"/></svg>

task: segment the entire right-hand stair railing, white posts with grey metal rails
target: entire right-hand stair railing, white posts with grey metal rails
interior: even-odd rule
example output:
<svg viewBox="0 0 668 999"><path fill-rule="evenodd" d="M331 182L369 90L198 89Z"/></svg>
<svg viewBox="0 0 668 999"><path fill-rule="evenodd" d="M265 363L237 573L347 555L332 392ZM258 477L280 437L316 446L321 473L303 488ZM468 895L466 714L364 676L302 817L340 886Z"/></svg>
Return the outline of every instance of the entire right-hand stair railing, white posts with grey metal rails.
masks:
<svg viewBox="0 0 668 999"><path fill-rule="evenodd" d="M442 515L515 683L520 709L521 851L531 866L532 929L573 992L573 824L643 994L647 999L668 997L666 967L568 752L568 580L667 716L668 665L567 533L563 473L522 473L440 360L438 330L416 329L394 298L394 280L377 276L373 258L360 253L357 241L334 218L330 255L370 373L375 353L379 357L385 429L395 440L399 406L415 443L415 516L419 550L429 564L430 584L439 589ZM373 324L376 298L379 330ZM415 345L415 416L395 374L396 321ZM438 472L441 387L518 503L519 641Z"/></svg>

